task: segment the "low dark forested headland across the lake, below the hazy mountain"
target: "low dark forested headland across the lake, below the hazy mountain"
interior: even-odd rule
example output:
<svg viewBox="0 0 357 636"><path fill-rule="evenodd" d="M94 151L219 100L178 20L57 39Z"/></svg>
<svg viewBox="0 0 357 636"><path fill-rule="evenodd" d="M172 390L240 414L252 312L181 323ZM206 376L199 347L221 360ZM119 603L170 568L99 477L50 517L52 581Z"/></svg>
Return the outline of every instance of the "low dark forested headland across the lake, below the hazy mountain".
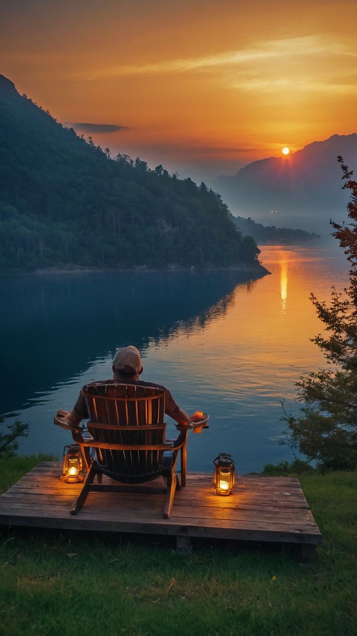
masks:
<svg viewBox="0 0 357 636"><path fill-rule="evenodd" d="M276 228L275 225L266 226L256 223L250 216L244 219L242 216L233 216L233 221L237 225L242 235L249 235L257 243L268 243L270 245L299 245L308 240L320 239L320 234L315 232L305 232L304 230L290 230L290 228Z"/></svg>

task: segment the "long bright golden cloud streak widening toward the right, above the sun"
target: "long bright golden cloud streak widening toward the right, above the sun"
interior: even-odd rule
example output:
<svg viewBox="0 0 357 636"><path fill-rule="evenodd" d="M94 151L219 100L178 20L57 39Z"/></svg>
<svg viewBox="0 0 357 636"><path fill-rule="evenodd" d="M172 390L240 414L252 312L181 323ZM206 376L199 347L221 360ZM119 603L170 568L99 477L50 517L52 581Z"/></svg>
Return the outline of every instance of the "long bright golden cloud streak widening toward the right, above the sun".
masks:
<svg viewBox="0 0 357 636"><path fill-rule="evenodd" d="M167 74L210 74L214 82L228 90L243 93L271 93L280 99L305 99L313 95L354 95L357 81L353 42L331 36L310 35L297 38L256 41L249 48L229 50L137 65L118 65L90 69L81 79L160 76Z"/></svg>

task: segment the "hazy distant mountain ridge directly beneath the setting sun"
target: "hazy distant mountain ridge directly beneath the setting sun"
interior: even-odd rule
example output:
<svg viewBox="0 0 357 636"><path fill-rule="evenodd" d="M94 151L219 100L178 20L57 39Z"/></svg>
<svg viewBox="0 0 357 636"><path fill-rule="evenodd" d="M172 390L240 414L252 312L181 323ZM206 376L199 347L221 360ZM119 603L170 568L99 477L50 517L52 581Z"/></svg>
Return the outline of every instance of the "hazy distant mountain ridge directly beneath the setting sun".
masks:
<svg viewBox="0 0 357 636"><path fill-rule="evenodd" d="M235 215L271 225L329 232L330 217L344 218L348 195L341 190L341 155L357 170L357 134L332 135L290 155L249 163L233 177L218 177L214 188ZM322 224L322 227L321 227Z"/></svg>

